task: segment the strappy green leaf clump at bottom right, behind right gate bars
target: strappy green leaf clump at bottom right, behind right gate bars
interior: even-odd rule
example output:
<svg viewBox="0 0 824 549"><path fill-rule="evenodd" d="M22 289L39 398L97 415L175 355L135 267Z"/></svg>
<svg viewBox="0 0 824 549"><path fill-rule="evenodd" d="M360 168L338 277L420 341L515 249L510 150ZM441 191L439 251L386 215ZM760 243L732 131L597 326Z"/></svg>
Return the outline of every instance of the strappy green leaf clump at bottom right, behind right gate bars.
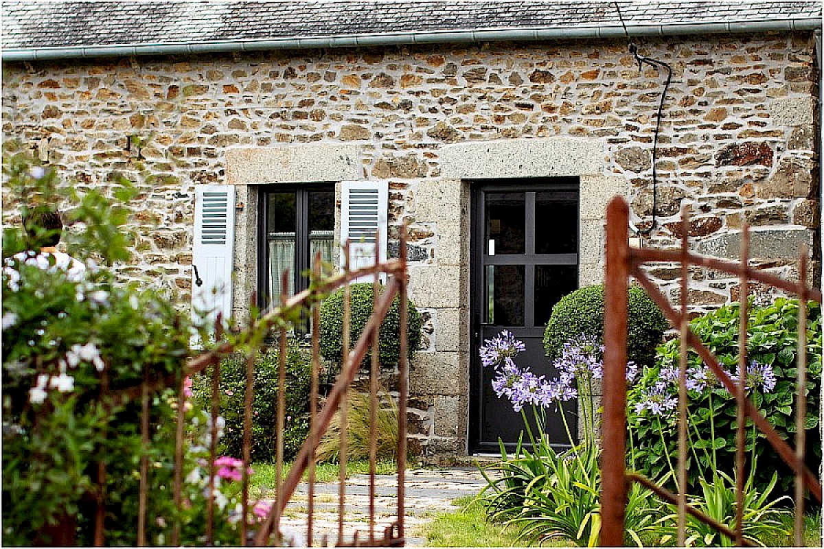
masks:
<svg viewBox="0 0 824 549"><path fill-rule="evenodd" d="M789 515L788 509L780 509L778 505L789 497L780 497L769 500L770 492L778 480L778 473L773 472L770 482L759 491L753 485L753 477L747 477L744 484L744 539L753 544L765 547L763 540L789 534L789 530L782 523L782 516ZM733 529L736 522L736 483L733 478L723 472L714 475L713 482L700 479L700 495L687 497L688 505L706 514L716 522L728 525ZM664 533L662 542L667 542L677 535L677 508L668 505L671 514L660 520L661 532ZM701 522L691 514L686 515L686 546L687 547L734 547L735 542L719 533L709 524Z"/></svg>

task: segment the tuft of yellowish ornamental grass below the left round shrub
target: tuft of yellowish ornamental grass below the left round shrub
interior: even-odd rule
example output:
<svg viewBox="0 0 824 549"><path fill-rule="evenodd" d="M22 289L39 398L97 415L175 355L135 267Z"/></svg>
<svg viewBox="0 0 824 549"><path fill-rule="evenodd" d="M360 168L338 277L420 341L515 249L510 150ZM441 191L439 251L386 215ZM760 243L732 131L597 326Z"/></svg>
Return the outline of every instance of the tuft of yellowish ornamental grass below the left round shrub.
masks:
<svg viewBox="0 0 824 549"><path fill-rule="evenodd" d="M346 415L346 457L347 459L369 458L372 406L369 393L353 391L349 393L349 412ZM395 459L398 447L398 404L386 389L377 392L377 458ZM340 454L340 412L332 416L329 429L318 445L317 458L321 462L338 461Z"/></svg>

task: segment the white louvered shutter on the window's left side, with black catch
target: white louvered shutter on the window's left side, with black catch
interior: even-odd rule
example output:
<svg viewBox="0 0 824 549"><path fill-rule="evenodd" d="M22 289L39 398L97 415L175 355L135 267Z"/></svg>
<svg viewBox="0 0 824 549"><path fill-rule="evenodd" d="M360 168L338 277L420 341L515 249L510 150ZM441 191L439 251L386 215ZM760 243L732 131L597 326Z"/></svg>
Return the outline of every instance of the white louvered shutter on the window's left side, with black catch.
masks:
<svg viewBox="0 0 824 549"><path fill-rule="evenodd" d="M232 316L232 259L235 244L235 188L197 185L194 188L194 249L192 251L192 318L208 312L212 329L218 313Z"/></svg>

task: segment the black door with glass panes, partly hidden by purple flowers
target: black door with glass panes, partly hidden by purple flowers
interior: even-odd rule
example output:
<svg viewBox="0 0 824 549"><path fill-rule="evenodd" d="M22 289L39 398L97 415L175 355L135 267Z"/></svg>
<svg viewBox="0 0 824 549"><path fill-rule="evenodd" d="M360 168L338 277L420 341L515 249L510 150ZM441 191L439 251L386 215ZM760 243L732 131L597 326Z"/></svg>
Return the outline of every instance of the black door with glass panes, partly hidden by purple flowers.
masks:
<svg viewBox="0 0 824 549"><path fill-rule="evenodd" d="M578 179L496 180L472 189L470 447L497 452L499 439L514 447L523 420L494 393L494 372L482 367L477 350L508 330L526 346L519 367L557 375L543 337L552 306L578 287ZM564 410L575 436L577 403L566 402ZM552 444L569 446L559 413L547 414Z"/></svg>

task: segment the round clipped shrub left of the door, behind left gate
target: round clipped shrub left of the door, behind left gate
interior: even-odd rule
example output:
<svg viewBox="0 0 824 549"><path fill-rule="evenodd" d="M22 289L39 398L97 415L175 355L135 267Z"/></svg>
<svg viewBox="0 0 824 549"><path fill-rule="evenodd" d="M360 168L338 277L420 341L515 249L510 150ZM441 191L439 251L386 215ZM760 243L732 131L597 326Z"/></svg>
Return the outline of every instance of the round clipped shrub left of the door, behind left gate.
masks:
<svg viewBox="0 0 824 549"><path fill-rule="evenodd" d="M352 291L352 324L349 333L349 348L354 347L372 314L372 283L361 282L350 286ZM420 348L421 319L414 303L409 301L407 318L408 351L412 358ZM327 361L340 363L343 350L344 329L344 289L335 291L321 305L321 356ZM392 301L386 317L381 323L381 337L378 340L380 361L383 366L394 366L400 358L400 299ZM370 355L363 357L362 368L368 368Z"/></svg>

